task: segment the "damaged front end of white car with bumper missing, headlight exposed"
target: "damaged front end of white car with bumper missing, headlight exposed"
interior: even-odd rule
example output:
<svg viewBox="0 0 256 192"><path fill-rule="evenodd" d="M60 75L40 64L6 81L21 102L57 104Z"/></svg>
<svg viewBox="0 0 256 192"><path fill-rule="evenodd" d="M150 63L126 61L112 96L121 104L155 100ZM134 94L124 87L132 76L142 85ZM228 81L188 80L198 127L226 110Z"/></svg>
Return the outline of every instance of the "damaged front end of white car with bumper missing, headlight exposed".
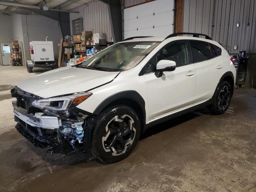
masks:
<svg viewBox="0 0 256 192"><path fill-rule="evenodd" d="M12 102L16 129L35 146L65 154L88 150L85 128L93 115L76 106L92 93L45 99L15 87L11 94L17 98Z"/></svg>

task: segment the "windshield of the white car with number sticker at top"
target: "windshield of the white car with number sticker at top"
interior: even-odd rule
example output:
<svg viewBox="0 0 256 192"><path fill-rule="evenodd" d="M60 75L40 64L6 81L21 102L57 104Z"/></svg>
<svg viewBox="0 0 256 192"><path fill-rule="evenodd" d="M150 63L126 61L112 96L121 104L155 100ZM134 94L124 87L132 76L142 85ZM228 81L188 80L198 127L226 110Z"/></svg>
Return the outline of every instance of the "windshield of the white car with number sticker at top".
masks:
<svg viewBox="0 0 256 192"><path fill-rule="evenodd" d="M138 65L158 44L149 41L114 44L78 67L104 71L129 70Z"/></svg>

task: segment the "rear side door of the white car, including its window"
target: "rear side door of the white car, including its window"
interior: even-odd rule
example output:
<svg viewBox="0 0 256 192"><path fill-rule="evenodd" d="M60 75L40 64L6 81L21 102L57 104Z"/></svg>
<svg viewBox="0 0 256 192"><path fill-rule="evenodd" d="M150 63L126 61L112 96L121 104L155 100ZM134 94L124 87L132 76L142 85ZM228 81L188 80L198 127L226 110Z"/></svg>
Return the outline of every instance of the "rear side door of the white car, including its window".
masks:
<svg viewBox="0 0 256 192"><path fill-rule="evenodd" d="M196 67L195 104L198 104L212 98L223 75L223 66L212 44L198 40L190 40L189 43Z"/></svg>

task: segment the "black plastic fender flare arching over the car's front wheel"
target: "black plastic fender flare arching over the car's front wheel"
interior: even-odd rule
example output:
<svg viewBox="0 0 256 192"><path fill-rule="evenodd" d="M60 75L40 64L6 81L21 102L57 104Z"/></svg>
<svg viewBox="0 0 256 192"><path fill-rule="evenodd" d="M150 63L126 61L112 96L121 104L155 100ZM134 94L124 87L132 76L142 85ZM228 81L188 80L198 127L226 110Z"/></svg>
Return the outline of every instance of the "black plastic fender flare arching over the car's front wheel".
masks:
<svg viewBox="0 0 256 192"><path fill-rule="evenodd" d="M145 110L145 101L142 98L142 96L134 91L134 90L127 90L127 91L121 91L118 93L115 93L111 96L109 96L108 98L106 98L105 100L103 100L94 110L93 114L100 114L100 112L106 108L106 106L108 106L108 104L114 102L115 100L118 99L132 99L135 102L137 102L140 105L140 108L142 109L143 112L143 116L144 119L146 118L146 110Z"/></svg>

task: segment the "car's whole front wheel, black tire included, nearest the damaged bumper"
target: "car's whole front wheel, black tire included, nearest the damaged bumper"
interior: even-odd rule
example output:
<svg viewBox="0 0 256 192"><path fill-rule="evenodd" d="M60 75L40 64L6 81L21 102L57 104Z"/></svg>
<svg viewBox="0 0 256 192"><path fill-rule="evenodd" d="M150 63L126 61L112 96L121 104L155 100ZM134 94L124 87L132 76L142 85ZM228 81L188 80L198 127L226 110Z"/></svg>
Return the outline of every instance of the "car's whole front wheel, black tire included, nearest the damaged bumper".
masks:
<svg viewBox="0 0 256 192"><path fill-rule="evenodd" d="M117 119L115 119L116 116ZM123 122L119 122L120 120ZM134 123L131 124L131 122ZM128 139L129 137L131 138ZM126 158L134 150L139 138L140 120L138 114L125 105L112 106L100 113L95 120L91 151L100 161L115 163Z"/></svg>

